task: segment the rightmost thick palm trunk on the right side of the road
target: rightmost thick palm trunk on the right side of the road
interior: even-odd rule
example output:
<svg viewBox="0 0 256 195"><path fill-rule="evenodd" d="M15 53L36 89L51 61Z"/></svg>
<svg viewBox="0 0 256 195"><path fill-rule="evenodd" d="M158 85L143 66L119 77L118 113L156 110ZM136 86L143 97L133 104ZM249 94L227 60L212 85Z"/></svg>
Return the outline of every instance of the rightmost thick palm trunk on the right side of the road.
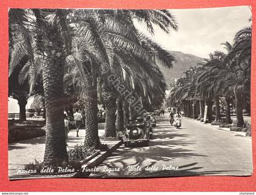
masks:
<svg viewBox="0 0 256 195"><path fill-rule="evenodd" d="M244 126L243 118L243 93L235 88L236 126Z"/></svg>

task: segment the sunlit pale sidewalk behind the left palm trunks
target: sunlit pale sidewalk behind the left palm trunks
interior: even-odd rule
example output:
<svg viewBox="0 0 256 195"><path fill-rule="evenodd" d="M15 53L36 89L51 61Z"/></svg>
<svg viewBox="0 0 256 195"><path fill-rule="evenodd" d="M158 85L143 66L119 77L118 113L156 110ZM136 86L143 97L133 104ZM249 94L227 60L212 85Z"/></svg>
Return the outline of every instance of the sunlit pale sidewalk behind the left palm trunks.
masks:
<svg viewBox="0 0 256 195"><path fill-rule="evenodd" d="M99 136L102 135L104 135L104 124L99 123ZM76 137L76 130L70 130L67 150L76 144L84 143L84 139L85 129L79 130L79 137ZM9 177L16 176L16 169L24 168L27 163L32 163L35 160L43 161L44 141L45 136L9 144ZM107 143L107 141L101 140L101 143ZM111 142L107 144L110 145Z"/></svg>

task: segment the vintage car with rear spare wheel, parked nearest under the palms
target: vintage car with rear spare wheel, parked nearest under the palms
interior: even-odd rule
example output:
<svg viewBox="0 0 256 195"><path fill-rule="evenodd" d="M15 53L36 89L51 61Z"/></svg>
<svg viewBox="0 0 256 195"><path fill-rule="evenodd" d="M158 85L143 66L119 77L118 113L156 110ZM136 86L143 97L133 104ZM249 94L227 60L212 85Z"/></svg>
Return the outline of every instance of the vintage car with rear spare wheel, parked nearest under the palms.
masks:
<svg viewBox="0 0 256 195"><path fill-rule="evenodd" d="M132 145L148 146L149 129L142 116L129 120L126 125L126 134L124 135L124 146Z"/></svg>

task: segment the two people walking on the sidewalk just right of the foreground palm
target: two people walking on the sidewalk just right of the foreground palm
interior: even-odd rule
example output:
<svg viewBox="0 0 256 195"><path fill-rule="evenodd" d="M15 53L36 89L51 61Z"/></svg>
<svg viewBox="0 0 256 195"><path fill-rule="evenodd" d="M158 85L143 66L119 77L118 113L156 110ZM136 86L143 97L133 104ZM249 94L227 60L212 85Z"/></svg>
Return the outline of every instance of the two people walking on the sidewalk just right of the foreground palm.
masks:
<svg viewBox="0 0 256 195"><path fill-rule="evenodd" d="M74 126L76 126L76 137L79 137L79 129L83 124L84 120L84 115L83 113L79 110L79 108L76 108L75 113L73 114L74 117ZM69 118L68 114L64 112L64 126L65 126L65 137L66 137L66 146L68 146L68 133L69 133Z"/></svg>

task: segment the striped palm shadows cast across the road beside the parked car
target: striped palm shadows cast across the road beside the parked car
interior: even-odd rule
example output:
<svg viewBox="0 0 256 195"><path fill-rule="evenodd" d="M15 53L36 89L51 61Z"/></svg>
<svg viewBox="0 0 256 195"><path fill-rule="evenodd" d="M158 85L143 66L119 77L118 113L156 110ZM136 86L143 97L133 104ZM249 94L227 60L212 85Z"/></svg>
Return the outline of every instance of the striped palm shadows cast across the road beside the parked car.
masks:
<svg viewBox="0 0 256 195"><path fill-rule="evenodd" d="M158 129L159 128L159 129ZM119 172L107 172L99 171L95 174L91 174L90 177L169 177L169 176L192 176L192 175L206 175L206 174L218 174L214 171L201 171L204 168L197 166L197 161L188 165L179 167L176 171L159 170L158 171L146 171L143 170L147 166L154 166L158 162L170 163L174 160L192 160L196 157L208 157L204 154L197 154L193 151L194 141L190 141L187 138L190 137L186 133L182 133L180 130L176 130L176 127L168 124L168 121L163 123L153 130L152 140L149 142L148 147L124 147L121 146L110 157L107 158L99 167L103 168L120 168ZM157 164L158 166L160 163ZM128 166L140 166L141 171L127 171Z"/></svg>

